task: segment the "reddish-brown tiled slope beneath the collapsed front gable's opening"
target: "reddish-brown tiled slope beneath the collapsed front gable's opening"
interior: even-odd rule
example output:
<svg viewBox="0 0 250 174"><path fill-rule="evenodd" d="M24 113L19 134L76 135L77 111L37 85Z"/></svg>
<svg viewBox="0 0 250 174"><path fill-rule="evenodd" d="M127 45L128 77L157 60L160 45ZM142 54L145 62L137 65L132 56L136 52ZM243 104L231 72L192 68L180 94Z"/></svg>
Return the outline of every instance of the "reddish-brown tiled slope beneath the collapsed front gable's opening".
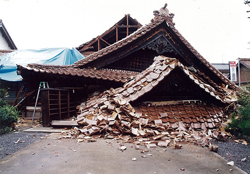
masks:
<svg viewBox="0 0 250 174"><path fill-rule="evenodd" d="M222 107L206 105L202 102L175 102L163 105L141 105L135 107L141 118L155 123L161 120L163 125L176 129L180 124L193 129L212 129L218 127L227 118Z"/></svg>

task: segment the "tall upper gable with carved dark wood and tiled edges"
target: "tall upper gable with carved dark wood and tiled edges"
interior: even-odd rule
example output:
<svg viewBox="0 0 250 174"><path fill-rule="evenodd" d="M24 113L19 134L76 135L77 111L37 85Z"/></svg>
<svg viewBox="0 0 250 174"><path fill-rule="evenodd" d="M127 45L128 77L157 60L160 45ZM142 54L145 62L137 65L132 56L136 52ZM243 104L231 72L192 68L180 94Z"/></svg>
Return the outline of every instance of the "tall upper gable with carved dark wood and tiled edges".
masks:
<svg viewBox="0 0 250 174"><path fill-rule="evenodd" d="M163 54L167 57L176 57L184 65L193 66L203 71L215 83L220 85L224 83L230 88L237 88L234 83L231 83L221 72L203 58L178 32L174 27L172 14L168 16L155 15L150 24L141 27L126 38L87 56L73 66L80 68L107 68L108 64L120 61L141 49L154 50L156 53L154 56ZM174 55L170 56L170 53ZM151 58L153 59L153 57Z"/></svg>

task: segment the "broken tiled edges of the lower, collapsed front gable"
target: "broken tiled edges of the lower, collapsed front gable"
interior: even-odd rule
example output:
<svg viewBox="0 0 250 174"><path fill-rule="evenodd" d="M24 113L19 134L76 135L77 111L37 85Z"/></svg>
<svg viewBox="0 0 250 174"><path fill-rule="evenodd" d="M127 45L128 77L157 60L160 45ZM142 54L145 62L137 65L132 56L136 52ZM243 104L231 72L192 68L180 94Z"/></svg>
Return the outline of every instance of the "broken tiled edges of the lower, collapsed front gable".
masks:
<svg viewBox="0 0 250 174"><path fill-rule="evenodd" d="M154 63L150 67L138 74L133 80L124 84L123 87L114 90L115 100L123 99L126 102L137 100L156 87L176 67L179 67L193 83L222 103L230 103L237 99L237 94L234 90L222 88L212 81L210 84L204 83L200 76L203 73L190 71L178 59L158 56L154 58ZM88 107L93 107L96 103L100 105L101 102L103 102L102 99L93 98L88 101Z"/></svg>

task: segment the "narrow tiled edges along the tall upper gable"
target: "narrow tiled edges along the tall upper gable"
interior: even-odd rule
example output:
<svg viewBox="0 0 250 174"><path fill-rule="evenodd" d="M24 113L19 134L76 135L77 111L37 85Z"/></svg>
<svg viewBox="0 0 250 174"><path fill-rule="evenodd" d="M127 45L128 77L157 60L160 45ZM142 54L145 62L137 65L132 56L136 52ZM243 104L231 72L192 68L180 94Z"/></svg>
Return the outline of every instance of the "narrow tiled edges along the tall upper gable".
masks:
<svg viewBox="0 0 250 174"><path fill-rule="evenodd" d="M151 23L139 28L134 33L130 34L129 36L125 37L124 39L115 42L114 44L101 49L89 56L85 57L80 61L77 61L73 64L74 67L80 67L84 64L87 64L91 61L94 61L104 55L107 55L125 45L129 44L130 42L136 40L137 38L145 35L147 32L151 31L153 28L157 27L158 25L166 22L167 25L174 31L174 33L180 38L180 40L191 50L191 52L204 64L206 65L213 73L215 73L225 84L229 85L231 88L236 89L237 86L230 82L221 72L219 72L216 68L214 68L204 57L202 57L197 50L179 33L179 31L174 27L174 23L172 22L173 16L162 17L158 16Z"/></svg>

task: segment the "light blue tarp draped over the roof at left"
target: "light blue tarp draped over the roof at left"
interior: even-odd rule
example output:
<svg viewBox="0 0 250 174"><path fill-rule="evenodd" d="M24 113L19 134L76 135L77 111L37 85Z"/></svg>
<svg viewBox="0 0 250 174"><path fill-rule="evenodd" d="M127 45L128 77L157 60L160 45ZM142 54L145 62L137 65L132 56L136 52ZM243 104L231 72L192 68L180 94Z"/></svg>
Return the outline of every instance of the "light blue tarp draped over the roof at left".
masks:
<svg viewBox="0 0 250 174"><path fill-rule="evenodd" d="M46 48L41 50L17 50L0 56L0 78L6 81L21 81L17 66L30 63L47 65L71 65L84 56L75 48Z"/></svg>

